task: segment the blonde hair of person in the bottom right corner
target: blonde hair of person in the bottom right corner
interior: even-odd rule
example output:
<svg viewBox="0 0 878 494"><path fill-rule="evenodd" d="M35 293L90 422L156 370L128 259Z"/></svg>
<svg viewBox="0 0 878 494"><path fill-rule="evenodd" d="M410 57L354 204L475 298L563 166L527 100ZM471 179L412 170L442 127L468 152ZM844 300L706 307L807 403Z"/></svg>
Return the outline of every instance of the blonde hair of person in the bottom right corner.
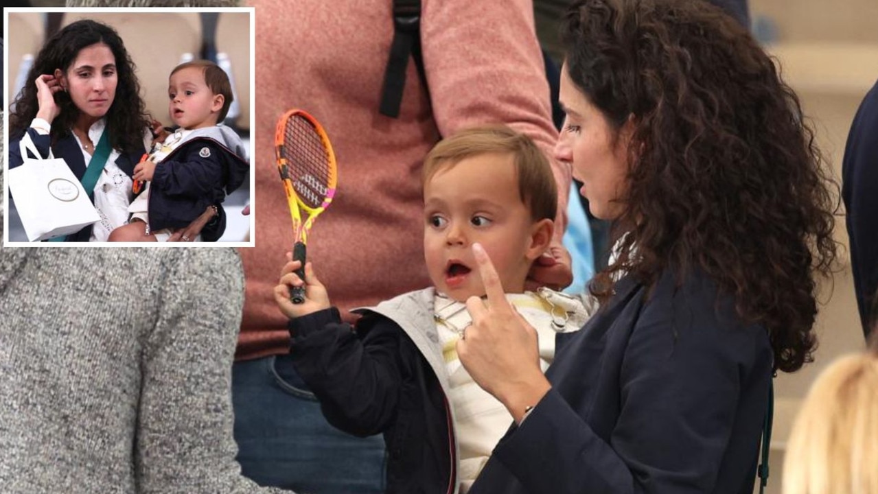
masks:
<svg viewBox="0 0 878 494"><path fill-rule="evenodd" d="M824 369L795 419L783 494L878 493L878 353Z"/></svg>

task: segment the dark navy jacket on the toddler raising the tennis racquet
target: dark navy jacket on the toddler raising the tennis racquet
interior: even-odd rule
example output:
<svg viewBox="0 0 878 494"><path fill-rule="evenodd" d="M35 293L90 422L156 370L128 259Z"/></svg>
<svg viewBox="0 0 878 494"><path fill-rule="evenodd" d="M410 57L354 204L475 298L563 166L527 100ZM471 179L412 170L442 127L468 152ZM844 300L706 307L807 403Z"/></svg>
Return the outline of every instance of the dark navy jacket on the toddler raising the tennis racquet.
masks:
<svg viewBox="0 0 878 494"><path fill-rule="evenodd" d="M355 332L335 307L289 327L293 365L327 421L360 437L384 433L385 491L450 492L455 458L445 394L405 330L366 311Z"/></svg>

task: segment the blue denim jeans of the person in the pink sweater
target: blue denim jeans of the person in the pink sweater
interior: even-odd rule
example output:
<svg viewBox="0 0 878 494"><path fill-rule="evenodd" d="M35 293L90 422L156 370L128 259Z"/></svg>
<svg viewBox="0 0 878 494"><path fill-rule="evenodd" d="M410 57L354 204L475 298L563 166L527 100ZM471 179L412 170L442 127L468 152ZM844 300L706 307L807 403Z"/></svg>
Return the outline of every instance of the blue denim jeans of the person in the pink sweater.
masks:
<svg viewBox="0 0 878 494"><path fill-rule="evenodd" d="M289 355L235 362L234 439L245 476L313 494L385 490L385 444L330 426Z"/></svg>

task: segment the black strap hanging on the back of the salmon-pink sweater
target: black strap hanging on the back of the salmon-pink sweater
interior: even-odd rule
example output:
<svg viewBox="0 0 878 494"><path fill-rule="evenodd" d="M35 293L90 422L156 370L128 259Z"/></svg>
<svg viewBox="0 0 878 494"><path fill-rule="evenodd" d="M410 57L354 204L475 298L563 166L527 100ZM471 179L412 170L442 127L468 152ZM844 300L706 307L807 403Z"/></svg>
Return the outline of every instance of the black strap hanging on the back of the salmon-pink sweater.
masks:
<svg viewBox="0 0 878 494"><path fill-rule="evenodd" d="M409 56L425 82L421 58L421 0L393 0L393 42L385 69L384 87L378 111L391 118L399 117L402 92L406 88L406 68Z"/></svg>

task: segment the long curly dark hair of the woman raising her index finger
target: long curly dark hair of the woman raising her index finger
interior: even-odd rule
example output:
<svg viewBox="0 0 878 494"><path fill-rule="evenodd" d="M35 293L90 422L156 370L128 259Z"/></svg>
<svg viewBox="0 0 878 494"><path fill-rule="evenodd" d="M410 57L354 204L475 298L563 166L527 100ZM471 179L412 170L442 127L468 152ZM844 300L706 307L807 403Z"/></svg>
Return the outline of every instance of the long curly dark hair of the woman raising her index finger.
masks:
<svg viewBox="0 0 878 494"><path fill-rule="evenodd" d="M774 370L813 360L815 276L835 268L838 184L799 99L749 32L708 2L582 0L565 16L565 70L616 136L631 122L614 280L649 288L705 272L766 327Z"/></svg>

